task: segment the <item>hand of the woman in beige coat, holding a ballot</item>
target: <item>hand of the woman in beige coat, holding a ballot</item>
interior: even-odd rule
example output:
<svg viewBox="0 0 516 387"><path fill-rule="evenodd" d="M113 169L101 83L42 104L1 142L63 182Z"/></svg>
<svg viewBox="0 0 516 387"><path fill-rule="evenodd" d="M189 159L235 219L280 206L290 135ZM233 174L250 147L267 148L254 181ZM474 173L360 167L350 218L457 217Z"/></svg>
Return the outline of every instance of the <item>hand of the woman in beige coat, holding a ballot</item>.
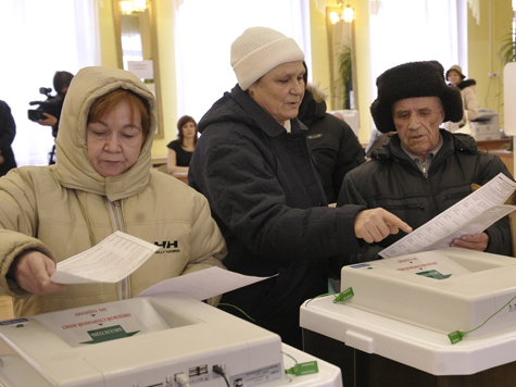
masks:
<svg viewBox="0 0 516 387"><path fill-rule="evenodd" d="M23 252L10 269L20 287L38 296L66 290L66 285L55 284L50 276L55 272L54 262L39 251Z"/></svg>

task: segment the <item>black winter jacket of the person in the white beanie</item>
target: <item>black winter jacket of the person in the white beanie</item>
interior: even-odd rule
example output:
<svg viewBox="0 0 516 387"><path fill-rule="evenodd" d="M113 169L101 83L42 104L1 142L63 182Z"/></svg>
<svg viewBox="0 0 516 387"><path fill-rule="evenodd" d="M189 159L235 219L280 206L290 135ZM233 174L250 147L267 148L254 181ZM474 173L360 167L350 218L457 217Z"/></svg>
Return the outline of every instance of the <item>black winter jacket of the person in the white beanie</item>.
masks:
<svg viewBox="0 0 516 387"><path fill-rule="evenodd" d="M278 274L222 302L301 348L299 308L327 292L328 260L366 244L354 236L364 208L327 207L305 130L290 122L289 134L237 85L198 125L189 184L206 196L226 238L223 263L246 275Z"/></svg>

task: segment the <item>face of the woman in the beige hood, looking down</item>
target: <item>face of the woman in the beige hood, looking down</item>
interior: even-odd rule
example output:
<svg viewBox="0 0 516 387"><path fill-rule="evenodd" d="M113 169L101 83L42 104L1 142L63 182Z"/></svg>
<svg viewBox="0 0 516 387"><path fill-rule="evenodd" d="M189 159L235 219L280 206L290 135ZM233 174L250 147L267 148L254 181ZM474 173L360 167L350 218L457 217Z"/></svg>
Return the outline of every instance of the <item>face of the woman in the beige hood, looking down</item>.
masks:
<svg viewBox="0 0 516 387"><path fill-rule="evenodd" d="M118 103L99 122L88 124L88 158L103 177L117 176L135 165L143 143L141 117L126 101Z"/></svg>

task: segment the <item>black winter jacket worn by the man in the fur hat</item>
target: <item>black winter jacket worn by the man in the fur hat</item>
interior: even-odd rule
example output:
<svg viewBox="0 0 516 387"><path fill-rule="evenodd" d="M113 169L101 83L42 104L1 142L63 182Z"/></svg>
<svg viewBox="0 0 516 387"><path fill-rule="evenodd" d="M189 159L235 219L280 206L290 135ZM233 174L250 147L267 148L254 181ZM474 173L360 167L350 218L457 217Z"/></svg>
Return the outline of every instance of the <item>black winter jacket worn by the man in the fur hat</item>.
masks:
<svg viewBox="0 0 516 387"><path fill-rule="evenodd" d="M347 175L338 205L381 207L416 229L471 194L471 184L483 185L501 172L513 178L498 155L477 150L473 137L443 129L440 133L444 142L428 176L403 151L399 136L394 135L382 149L373 152L369 162ZM487 252L512 255L507 216L486 233L489 235ZM404 236L405 233L400 232L378 246L388 247ZM372 248L368 258L379 250Z"/></svg>

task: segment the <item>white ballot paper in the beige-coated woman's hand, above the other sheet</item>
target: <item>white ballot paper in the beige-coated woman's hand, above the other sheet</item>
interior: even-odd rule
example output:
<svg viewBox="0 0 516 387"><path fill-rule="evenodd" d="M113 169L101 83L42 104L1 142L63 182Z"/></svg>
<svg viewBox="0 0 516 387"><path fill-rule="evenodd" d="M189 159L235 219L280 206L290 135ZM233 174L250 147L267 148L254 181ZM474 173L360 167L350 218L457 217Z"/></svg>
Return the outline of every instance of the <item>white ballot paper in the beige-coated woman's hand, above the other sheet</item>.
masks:
<svg viewBox="0 0 516 387"><path fill-rule="evenodd" d="M117 283L140 267L159 246L115 232L92 248L58 263L56 284Z"/></svg>

